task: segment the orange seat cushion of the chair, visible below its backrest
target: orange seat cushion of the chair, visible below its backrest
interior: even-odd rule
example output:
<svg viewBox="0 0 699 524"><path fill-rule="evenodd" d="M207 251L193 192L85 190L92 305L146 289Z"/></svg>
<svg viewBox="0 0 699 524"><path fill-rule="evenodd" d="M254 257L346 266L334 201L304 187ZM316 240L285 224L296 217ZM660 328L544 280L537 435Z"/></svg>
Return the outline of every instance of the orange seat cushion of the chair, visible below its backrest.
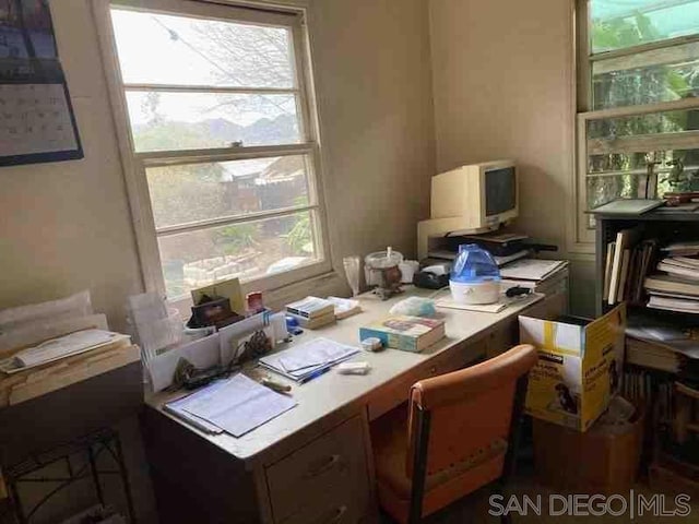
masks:
<svg viewBox="0 0 699 524"><path fill-rule="evenodd" d="M412 489L412 480L405 469L406 410L406 406L393 409L371 428L379 502L399 522L407 522ZM502 473L506 451L507 442L497 439L467 458L428 475L423 515L429 515L497 479Z"/></svg>

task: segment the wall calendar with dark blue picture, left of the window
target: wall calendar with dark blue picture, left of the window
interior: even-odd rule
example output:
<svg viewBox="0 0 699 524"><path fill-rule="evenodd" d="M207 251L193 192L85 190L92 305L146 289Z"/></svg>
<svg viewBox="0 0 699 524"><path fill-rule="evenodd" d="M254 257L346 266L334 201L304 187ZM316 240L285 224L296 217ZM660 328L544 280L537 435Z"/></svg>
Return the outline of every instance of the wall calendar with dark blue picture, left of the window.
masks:
<svg viewBox="0 0 699 524"><path fill-rule="evenodd" d="M83 157L46 0L0 0L0 166Z"/></svg>

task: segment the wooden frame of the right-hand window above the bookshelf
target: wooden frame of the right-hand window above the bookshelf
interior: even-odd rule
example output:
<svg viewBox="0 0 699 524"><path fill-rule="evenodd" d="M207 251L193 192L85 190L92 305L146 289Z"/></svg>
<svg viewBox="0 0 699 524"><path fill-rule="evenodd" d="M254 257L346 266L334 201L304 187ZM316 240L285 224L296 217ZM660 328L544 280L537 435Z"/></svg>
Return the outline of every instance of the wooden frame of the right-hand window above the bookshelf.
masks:
<svg viewBox="0 0 699 524"><path fill-rule="evenodd" d="M644 51L656 49L667 49L686 44L699 43L699 34L679 36L665 40L641 44L624 49L601 51L593 53L590 39L590 0L574 0L574 35L576 45L576 167L574 183L572 188L573 224L571 225L571 236L569 251L580 253L594 252L594 229L588 227L588 156L592 141L587 139L587 128L590 120L616 117L633 117L654 112L664 112L683 109L699 109L699 98L680 98L672 102L661 102L653 104L642 104L635 106L614 107L607 109L593 109L592 107L592 68L594 62L602 60L618 59L639 55ZM674 136L671 136L674 134ZM628 138L629 143L633 140L643 140L650 146L659 148L683 148L687 140L699 136L698 131L685 131L683 133L664 133L664 135L649 135L645 138ZM594 145L592 145L594 146Z"/></svg>

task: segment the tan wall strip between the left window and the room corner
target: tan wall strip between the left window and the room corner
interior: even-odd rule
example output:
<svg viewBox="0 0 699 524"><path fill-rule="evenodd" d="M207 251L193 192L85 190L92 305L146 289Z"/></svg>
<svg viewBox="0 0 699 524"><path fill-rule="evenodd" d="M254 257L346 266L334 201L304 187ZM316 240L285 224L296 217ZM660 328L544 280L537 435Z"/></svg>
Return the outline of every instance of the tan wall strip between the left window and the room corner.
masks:
<svg viewBox="0 0 699 524"><path fill-rule="evenodd" d="M426 2L320 0L312 15L331 243L414 255L435 172Z"/></svg>

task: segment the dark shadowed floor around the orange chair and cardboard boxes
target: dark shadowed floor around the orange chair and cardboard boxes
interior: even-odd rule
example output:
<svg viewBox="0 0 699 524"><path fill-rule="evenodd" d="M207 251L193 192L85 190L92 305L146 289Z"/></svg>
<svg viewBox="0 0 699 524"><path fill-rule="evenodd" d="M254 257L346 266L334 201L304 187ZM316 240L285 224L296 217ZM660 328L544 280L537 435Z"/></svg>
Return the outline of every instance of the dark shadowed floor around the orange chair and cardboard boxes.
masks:
<svg viewBox="0 0 699 524"><path fill-rule="evenodd" d="M651 496L655 495L650 490L648 486L642 483L639 483L633 488L635 493L642 495L647 499L650 499ZM645 513L643 515L635 514L633 517L630 514L625 512L619 516L614 516L611 514L602 514L600 516L594 516L589 514L587 516L577 514L564 514L564 515L552 515L549 512L549 496L557 495L558 492L555 489L549 487L544 487L537 484L534 472L529 469L521 473L518 478L516 478L510 488L507 491L507 497L502 501L502 505L507 505L508 501L511 500L511 497L514 496L517 498L518 503L522 504L522 500L524 496L529 496L529 498L533 501L537 501L537 496L541 496L541 514L536 514L532 507L529 505L526 511L522 511L522 513L511 513L511 522L512 524L529 524L529 523L556 523L556 524L584 524L584 523L594 523L594 524L605 524L605 523L639 523L639 524L655 524L657 522L687 522L687 523L699 523L699 500L690 501L690 511L688 516L679 517L679 516L664 516L659 517L654 514ZM490 489L482 489L478 490L471 496L454 502L450 507L445 510L430 515L425 519L425 524L494 524L499 523L500 519L498 516L493 516L488 512L495 507L490 507L489 498L493 495ZM554 498L554 510L560 509L562 505L562 501L558 498ZM629 500L628 493L626 493L627 501ZM512 502L514 503L514 502ZM592 504L592 510L599 510L601 505L597 505L599 502ZM612 511L619 511L621 502L619 500L612 501L611 508ZM572 508L572 502L570 503L570 508ZM512 507L516 508L516 507ZM674 505L674 496L665 496L665 509L672 511L675 509ZM584 510L582 510L584 511ZM637 511L637 510L635 510ZM525 514L524 514L525 513ZM572 513L572 511L571 511ZM386 514L381 517L382 524L392 524L393 521Z"/></svg>

